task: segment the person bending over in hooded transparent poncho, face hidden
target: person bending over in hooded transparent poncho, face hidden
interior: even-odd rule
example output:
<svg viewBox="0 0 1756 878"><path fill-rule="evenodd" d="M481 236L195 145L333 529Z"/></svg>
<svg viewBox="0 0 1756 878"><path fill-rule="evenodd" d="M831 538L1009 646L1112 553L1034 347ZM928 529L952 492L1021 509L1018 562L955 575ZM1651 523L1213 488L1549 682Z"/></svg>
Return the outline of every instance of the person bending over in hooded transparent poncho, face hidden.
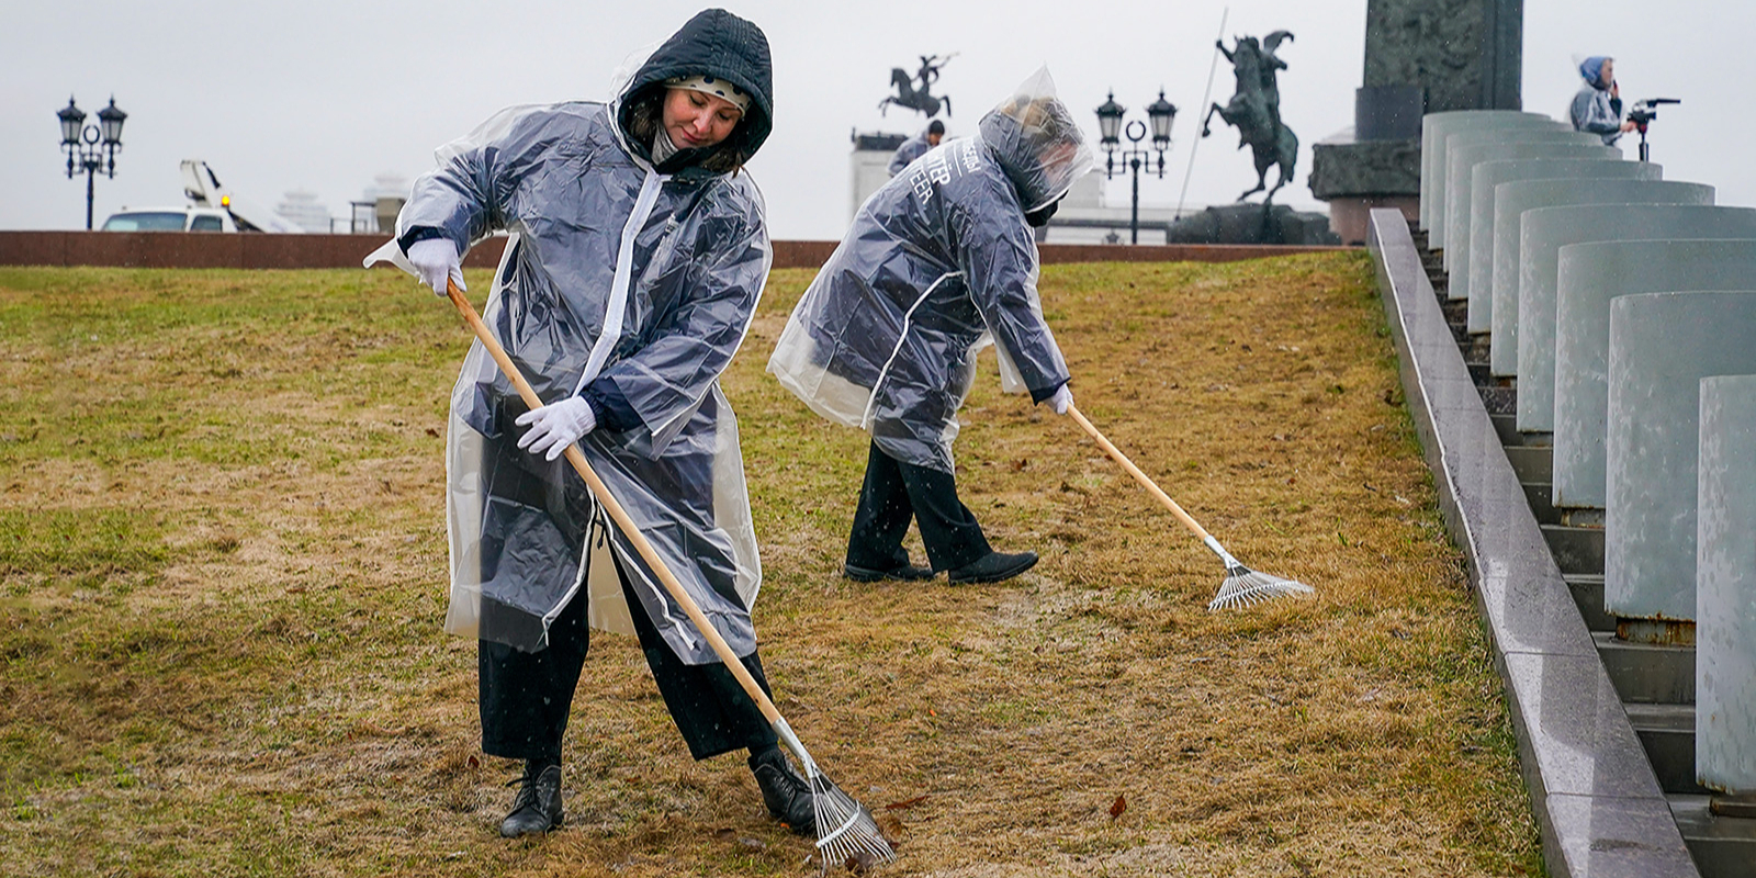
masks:
<svg viewBox="0 0 1756 878"><path fill-rule="evenodd" d="M1003 385L1066 413L1068 365L1036 297L1031 227L1092 156L1048 70L982 118L976 137L915 160L871 195L799 300L769 372L818 414L871 430L845 572L860 581L1001 581L1036 564L994 551L957 499L952 439L976 353ZM903 548L910 520L931 567Z"/></svg>

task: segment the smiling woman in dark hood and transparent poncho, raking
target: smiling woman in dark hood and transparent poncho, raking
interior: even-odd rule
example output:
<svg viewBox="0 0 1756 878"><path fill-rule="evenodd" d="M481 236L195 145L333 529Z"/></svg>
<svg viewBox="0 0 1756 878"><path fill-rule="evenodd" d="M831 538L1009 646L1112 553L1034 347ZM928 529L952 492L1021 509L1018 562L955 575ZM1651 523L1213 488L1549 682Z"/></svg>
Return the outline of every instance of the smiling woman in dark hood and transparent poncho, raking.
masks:
<svg viewBox="0 0 1756 878"><path fill-rule="evenodd" d="M515 107L441 149L397 220L435 291L504 228L486 325L546 406L478 342L451 395L446 629L479 639L483 750L525 760L504 836L562 824L560 745L588 627L639 637L695 759L748 748L769 811L811 832L810 787L706 639L562 458L578 443L745 667L767 688L762 578L718 376L767 279L745 162L771 130L767 39L709 9L604 105ZM390 255L397 256L397 255Z"/></svg>

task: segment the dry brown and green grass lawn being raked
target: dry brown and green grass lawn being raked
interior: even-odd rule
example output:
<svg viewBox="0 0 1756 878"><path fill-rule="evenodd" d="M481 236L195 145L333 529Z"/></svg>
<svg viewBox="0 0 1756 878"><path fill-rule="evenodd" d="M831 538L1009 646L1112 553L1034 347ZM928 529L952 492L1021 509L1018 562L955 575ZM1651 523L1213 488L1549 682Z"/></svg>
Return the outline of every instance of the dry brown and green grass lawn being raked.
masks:
<svg viewBox="0 0 1756 878"><path fill-rule="evenodd" d="M725 381L757 630L781 711L901 836L894 874L1538 869L1363 256L1045 270L1082 409L1233 553L1319 588L1224 615L1213 557L992 378L961 488L1043 564L838 578L864 434L762 374L808 281L776 272ZM611 636L567 829L493 834L516 769L479 755L474 644L437 630L467 341L443 302L388 272L0 269L0 873L815 871Z"/></svg>

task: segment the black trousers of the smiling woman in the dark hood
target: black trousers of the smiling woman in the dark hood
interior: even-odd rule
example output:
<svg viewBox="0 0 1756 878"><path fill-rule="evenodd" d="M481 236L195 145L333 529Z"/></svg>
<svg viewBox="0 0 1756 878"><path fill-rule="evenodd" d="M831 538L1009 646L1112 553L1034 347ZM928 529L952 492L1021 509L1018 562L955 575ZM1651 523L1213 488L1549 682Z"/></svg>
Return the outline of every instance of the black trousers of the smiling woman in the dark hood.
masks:
<svg viewBox="0 0 1756 878"><path fill-rule="evenodd" d="M676 730L695 759L716 757L739 748L774 746L774 729L723 664L683 664L664 636L646 618L639 599L622 574L622 594L634 616L641 651L658 683ZM506 759L560 762L560 741L567 732L572 692L579 685L590 625L585 622L587 595L581 588L550 625L550 646L527 653L493 641L478 641L478 680L481 708L481 750ZM773 692L755 651L743 658L762 692Z"/></svg>

